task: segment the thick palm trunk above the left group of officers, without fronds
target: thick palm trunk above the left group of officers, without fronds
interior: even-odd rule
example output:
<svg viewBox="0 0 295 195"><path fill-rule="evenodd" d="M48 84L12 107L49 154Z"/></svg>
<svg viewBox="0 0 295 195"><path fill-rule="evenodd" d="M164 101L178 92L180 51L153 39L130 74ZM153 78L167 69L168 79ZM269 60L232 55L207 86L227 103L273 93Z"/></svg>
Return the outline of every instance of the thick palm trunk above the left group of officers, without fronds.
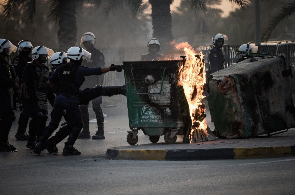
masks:
<svg viewBox="0 0 295 195"><path fill-rule="evenodd" d="M59 1L59 48L64 52L77 42L77 0Z"/></svg>

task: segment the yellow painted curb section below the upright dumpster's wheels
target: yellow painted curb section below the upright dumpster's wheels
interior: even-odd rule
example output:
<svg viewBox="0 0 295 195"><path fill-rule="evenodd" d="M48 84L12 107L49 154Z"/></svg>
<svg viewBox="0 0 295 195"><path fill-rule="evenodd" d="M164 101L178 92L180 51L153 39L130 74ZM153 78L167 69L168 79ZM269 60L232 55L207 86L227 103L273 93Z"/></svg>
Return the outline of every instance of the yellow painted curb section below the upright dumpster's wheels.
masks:
<svg viewBox="0 0 295 195"><path fill-rule="evenodd" d="M117 157L133 160L165 160L166 150L120 149Z"/></svg>

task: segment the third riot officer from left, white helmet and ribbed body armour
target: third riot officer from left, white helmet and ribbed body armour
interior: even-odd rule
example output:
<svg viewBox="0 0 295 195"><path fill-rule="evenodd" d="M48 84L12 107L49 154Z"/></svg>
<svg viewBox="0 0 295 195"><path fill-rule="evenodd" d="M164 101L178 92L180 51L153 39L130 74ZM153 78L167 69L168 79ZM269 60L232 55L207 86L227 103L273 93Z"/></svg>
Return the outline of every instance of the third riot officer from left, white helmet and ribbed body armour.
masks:
<svg viewBox="0 0 295 195"><path fill-rule="evenodd" d="M34 149L36 140L46 127L48 118L47 97L44 87L48 81L49 67L44 64L47 55L54 51L44 46L32 50L33 61L27 62L21 78L23 104L27 104L30 113L29 137L27 148Z"/></svg>

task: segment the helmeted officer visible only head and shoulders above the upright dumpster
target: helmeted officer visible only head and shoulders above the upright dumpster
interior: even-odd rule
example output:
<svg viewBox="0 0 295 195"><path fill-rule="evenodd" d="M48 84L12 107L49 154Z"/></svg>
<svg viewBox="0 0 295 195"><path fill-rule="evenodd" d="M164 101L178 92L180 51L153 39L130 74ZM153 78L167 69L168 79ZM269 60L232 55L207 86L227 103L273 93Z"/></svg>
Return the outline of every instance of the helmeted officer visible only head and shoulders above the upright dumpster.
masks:
<svg viewBox="0 0 295 195"><path fill-rule="evenodd" d="M158 61L163 58L163 55L158 53L161 50L161 43L158 39L152 38L147 46L149 53L142 55L141 61Z"/></svg>

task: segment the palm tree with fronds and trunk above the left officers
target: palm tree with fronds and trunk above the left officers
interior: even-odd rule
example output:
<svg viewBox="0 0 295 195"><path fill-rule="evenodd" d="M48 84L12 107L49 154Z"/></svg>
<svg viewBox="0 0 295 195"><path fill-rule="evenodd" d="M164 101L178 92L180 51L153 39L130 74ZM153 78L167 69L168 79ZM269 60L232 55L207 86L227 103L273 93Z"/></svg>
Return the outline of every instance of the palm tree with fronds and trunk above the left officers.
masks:
<svg viewBox="0 0 295 195"><path fill-rule="evenodd" d="M86 3L93 3L99 6L102 0L46 0L48 5L48 16L50 19L59 22L58 39L60 48L69 48L76 44L77 25L76 13L77 8ZM3 16L9 22L11 13L17 7L25 9L24 16L27 22L33 23L35 15L36 0L6 0L4 2Z"/></svg>

